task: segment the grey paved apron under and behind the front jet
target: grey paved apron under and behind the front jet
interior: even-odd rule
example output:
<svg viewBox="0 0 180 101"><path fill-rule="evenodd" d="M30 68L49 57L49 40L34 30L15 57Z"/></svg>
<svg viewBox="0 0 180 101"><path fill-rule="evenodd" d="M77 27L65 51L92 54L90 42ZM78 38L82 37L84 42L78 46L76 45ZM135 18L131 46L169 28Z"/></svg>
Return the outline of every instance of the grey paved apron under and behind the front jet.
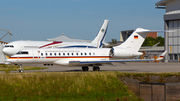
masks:
<svg viewBox="0 0 180 101"><path fill-rule="evenodd" d="M36 66L36 65L34 65ZM24 72L81 72L81 67L66 67L66 66L43 66L49 69L44 70L25 70ZM92 67L89 67L89 71L93 71ZM113 65L100 66L100 71L119 71L119 72L135 72L135 73L169 73L169 72L180 72L180 63L140 63L130 62L126 64L113 63ZM18 73L18 71L11 71L10 73Z"/></svg>

